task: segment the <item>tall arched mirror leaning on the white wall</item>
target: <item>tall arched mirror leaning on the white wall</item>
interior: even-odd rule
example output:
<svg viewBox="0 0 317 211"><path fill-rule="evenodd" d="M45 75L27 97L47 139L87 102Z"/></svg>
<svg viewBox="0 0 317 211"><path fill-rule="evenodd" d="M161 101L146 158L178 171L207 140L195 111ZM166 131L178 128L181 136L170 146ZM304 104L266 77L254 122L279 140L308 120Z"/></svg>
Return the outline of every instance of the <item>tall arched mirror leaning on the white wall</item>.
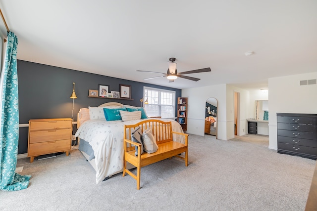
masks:
<svg viewBox="0 0 317 211"><path fill-rule="evenodd" d="M206 101L205 107L205 134L214 135L217 138L217 107L218 101L211 97Z"/></svg>

